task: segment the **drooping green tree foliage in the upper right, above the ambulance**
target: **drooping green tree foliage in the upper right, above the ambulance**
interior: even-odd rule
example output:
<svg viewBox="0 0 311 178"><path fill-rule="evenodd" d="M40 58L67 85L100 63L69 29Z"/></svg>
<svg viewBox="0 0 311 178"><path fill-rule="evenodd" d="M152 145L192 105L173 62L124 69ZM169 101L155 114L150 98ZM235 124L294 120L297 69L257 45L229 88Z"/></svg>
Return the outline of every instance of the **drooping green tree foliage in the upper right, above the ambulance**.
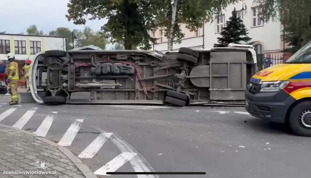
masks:
<svg viewBox="0 0 311 178"><path fill-rule="evenodd" d="M254 0L262 7L259 15L267 22L279 20L284 26L286 51L295 53L311 40L311 0Z"/></svg>

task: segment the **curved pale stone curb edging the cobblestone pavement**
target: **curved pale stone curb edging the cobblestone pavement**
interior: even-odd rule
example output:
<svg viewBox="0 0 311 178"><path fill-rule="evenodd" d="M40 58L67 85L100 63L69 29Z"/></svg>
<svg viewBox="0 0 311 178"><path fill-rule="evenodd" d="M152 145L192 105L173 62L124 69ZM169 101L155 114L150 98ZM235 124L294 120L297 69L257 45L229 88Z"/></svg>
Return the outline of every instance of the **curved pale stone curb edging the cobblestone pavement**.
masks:
<svg viewBox="0 0 311 178"><path fill-rule="evenodd" d="M82 161L76 155L74 155L71 151L69 151L67 148L65 148L65 147L63 147L61 145L58 145L57 143L54 143L53 141L49 141L49 140L45 139L44 137L38 137L34 133L27 132L27 131L19 129L19 128L13 128L13 127L10 127L10 126L7 126L7 125L2 125L2 124L0 124L0 126L1 127L5 127L5 128L11 128L11 129L14 129L14 130L19 131L19 132L23 132L23 133L25 133L27 135L35 137L36 139L38 139L40 141L43 141L43 142L45 142L45 143L47 143L49 145L52 145L52 146L56 147L65 156L67 156L67 158L72 163L74 163L77 166L77 168L82 172L82 174L86 178L98 178L97 176L95 176L93 171L89 167L86 166L86 164L82 163Z"/></svg>

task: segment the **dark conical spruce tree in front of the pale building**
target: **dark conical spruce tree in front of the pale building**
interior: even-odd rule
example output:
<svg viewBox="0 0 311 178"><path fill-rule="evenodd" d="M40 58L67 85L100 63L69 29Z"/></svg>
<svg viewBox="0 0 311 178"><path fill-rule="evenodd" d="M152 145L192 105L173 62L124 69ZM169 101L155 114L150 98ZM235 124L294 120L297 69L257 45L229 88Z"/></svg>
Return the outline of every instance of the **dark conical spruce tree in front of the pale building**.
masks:
<svg viewBox="0 0 311 178"><path fill-rule="evenodd" d="M243 20L237 17L237 11L234 8L232 16L226 21L226 25L220 32L221 37L217 37L218 44L214 44L214 47L226 47L230 43L252 44L252 38L248 37L248 30L243 24Z"/></svg>

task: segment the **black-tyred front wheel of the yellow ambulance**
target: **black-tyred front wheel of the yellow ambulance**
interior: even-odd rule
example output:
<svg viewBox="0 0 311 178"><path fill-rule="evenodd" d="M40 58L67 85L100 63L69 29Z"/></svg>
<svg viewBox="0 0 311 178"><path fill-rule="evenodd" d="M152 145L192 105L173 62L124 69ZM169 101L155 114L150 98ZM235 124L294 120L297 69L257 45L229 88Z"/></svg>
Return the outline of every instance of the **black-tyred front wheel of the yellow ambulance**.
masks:
<svg viewBox="0 0 311 178"><path fill-rule="evenodd" d="M300 136L311 137L311 105L310 101L299 102L290 112L289 126Z"/></svg>

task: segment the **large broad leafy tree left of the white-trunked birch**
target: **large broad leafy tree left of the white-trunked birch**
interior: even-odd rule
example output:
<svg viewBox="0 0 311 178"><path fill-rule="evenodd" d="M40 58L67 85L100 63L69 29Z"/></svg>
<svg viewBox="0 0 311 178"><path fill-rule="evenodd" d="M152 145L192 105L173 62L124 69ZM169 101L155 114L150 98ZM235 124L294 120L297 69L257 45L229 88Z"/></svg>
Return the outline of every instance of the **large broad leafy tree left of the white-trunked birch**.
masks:
<svg viewBox="0 0 311 178"><path fill-rule="evenodd" d="M67 4L68 20L74 24L85 24L89 20L106 18L108 22L101 29L104 37L111 38L112 43L120 43L125 49L142 46L149 49L149 26L157 15L155 4L158 0L70 0Z"/></svg>

